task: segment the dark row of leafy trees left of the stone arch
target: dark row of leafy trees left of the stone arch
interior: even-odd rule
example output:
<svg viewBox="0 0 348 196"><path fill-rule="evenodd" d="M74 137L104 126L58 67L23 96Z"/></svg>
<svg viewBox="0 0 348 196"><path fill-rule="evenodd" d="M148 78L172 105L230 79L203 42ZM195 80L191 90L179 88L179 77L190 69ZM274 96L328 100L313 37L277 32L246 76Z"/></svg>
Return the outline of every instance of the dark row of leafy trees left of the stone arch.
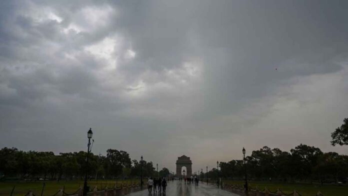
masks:
<svg viewBox="0 0 348 196"><path fill-rule="evenodd" d="M90 178L129 178L139 177L141 160L131 160L126 151L108 149L105 155L89 153L86 165L86 152L22 151L17 148L0 149L0 178L19 179L82 179L88 168ZM151 161L142 160L143 176L153 176L156 171ZM167 176L163 168L159 176Z"/></svg>

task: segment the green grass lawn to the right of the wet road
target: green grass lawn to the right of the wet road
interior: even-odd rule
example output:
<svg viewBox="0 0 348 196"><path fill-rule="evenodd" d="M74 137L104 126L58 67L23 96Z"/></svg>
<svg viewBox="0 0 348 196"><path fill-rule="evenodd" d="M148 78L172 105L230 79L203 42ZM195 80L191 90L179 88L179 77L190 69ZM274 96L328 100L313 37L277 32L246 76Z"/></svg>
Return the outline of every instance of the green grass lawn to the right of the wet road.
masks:
<svg viewBox="0 0 348 196"><path fill-rule="evenodd" d="M244 181L224 180L224 183L242 185ZM297 190L302 196L315 196L319 190L324 196L347 196L348 186L338 185L320 185L320 184L305 184L305 183L281 183L281 182L269 182L269 181L248 181L248 185L253 189L257 186L260 190L267 187L270 191L275 191L277 188L281 189L284 193L291 193L293 190Z"/></svg>

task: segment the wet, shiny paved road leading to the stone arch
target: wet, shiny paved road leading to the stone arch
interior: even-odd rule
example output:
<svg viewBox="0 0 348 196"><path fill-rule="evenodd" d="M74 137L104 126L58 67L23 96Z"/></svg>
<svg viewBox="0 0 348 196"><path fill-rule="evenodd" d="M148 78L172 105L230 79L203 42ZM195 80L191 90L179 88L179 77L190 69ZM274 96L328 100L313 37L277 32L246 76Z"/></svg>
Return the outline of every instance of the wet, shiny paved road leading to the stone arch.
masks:
<svg viewBox="0 0 348 196"><path fill-rule="evenodd" d="M166 193L148 193L148 190L141 190L138 192L133 192L129 196L193 196L193 195L222 195L222 196L238 196L237 194L227 192L225 190L217 189L212 186L208 186L204 183L199 183L199 185L185 184L183 181L174 180L173 182L167 182L168 186Z"/></svg>

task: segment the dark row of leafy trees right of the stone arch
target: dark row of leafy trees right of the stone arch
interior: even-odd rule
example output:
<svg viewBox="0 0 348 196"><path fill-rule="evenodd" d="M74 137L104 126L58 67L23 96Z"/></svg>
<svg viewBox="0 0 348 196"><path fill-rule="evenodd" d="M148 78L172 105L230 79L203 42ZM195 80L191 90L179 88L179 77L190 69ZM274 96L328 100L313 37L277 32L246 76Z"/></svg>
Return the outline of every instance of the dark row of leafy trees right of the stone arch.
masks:
<svg viewBox="0 0 348 196"><path fill-rule="evenodd" d="M208 172L209 176L219 174L225 178L244 178L243 160L220 162L220 171ZM249 179L313 181L321 183L345 181L348 177L348 156L336 152L322 152L319 148L304 144L297 145L289 152L264 146L253 150L245 157Z"/></svg>

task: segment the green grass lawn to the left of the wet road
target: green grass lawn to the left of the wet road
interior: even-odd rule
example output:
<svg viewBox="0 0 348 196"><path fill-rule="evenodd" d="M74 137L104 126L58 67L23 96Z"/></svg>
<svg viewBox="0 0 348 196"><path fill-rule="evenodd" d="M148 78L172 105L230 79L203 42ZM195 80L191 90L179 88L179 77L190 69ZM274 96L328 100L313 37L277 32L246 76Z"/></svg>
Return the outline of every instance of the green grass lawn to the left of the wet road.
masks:
<svg viewBox="0 0 348 196"><path fill-rule="evenodd" d="M131 182L139 183L139 180L132 179ZM97 185L98 189L103 189L106 184L109 188L112 188L116 180L90 180L88 185L92 188L94 185ZM117 187L120 187L122 181L117 180ZM123 184L130 183L130 180L123 180ZM36 182L0 182L0 195L9 195L12 191L13 186L15 185L13 195L23 196L29 190L33 191L35 195L40 195L42 190L43 181ZM43 190L43 195L52 195L57 192L60 188L64 187L66 193L73 193L79 187L83 188L83 180L61 180L57 181L45 181L45 187Z"/></svg>

